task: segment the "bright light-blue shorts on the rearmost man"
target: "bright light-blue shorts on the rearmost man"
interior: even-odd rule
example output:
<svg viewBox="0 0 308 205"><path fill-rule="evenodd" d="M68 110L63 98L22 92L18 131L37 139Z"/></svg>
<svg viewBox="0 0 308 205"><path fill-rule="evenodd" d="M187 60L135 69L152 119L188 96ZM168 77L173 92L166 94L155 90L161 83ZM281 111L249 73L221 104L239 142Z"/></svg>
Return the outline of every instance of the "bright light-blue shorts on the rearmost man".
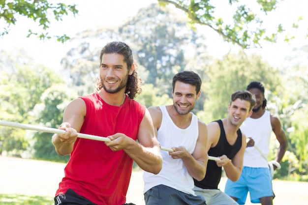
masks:
<svg viewBox="0 0 308 205"><path fill-rule="evenodd" d="M238 199L244 205L249 191L251 203L260 203L262 197L275 197L272 186L272 175L269 168L243 167L239 180L227 180L224 192Z"/></svg>

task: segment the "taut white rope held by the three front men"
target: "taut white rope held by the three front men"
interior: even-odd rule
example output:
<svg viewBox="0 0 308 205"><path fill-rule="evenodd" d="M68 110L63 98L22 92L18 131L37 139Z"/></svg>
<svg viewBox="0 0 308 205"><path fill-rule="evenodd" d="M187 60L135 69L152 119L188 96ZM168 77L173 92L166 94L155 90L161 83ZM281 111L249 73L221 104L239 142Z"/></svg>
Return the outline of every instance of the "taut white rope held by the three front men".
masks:
<svg viewBox="0 0 308 205"><path fill-rule="evenodd" d="M7 127L21 128L21 129L26 129L26 130L35 130L35 131L40 131L40 132L54 133L54 134L60 134L60 135L64 135L66 132L65 130L61 130L61 129L30 125L30 124L22 124L22 123L17 123L17 122L8 122L8 121L3 121L3 120L0 120L0 125L7 126ZM110 142L109 138L99 137L95 135L88 135L88 134L83 134L83 133L77 133L77 137L84 138L84 139L90 139L90 140L96 140L96 141ZM164 151L173 152L173 149L166 148L163 146L161 146L160 149ZM209 160L220 161L220 158L209 156Z"/></svg>

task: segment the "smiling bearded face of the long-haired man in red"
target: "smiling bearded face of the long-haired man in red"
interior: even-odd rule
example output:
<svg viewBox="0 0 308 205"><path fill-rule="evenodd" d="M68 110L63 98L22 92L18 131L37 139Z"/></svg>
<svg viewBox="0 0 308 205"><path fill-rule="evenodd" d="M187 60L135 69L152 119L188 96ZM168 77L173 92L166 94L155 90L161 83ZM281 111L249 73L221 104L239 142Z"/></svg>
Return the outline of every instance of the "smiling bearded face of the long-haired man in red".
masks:
<svg viewBox="0 0 308 205"><path fill-rule="evenodd" d="M124 57L120 54L104 54L100 63L100 79L104 90L108 93L125 91L128 75L133 73L133 67L128 71Z"/></svg>

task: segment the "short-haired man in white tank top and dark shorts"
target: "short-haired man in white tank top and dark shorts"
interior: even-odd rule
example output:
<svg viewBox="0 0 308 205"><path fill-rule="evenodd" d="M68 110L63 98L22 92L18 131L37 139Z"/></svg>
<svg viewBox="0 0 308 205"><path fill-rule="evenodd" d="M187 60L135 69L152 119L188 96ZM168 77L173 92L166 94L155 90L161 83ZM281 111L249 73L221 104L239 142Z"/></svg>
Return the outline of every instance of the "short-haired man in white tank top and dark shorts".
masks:
<svg viewBox="0 0 308 205"><path fill-rule="evenodd" d="M154 175L144 172L146 205L206 205L194 194L193 178L202 180L208 163L208 130L190 111L200 97L201 79L191 71L173 78L173 105L150 107L154 131L160 146L162 170Z"/></svg>

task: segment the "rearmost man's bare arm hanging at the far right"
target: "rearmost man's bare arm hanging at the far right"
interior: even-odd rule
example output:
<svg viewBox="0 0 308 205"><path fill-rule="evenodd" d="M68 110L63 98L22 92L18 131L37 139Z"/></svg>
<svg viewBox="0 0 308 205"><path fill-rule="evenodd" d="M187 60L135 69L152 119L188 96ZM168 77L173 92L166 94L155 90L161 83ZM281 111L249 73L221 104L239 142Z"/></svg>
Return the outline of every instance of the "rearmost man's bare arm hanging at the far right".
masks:
<svg viewBox="0 0 308 205"><path fill-rule="evenodd" d="M284 156L284 153L286 152L286 150L288 148L288 140L285 136L285 133L282 129L281 122L280 122L278 117L271 115L271 124L272 124L273 132L275 133L276 138L279 142L279 147L278 147L278 150L277 150L277 156L276 156L275 160L280 163L283 156ZM275 166L275 169L276 168L277 167Z"/></svg>

